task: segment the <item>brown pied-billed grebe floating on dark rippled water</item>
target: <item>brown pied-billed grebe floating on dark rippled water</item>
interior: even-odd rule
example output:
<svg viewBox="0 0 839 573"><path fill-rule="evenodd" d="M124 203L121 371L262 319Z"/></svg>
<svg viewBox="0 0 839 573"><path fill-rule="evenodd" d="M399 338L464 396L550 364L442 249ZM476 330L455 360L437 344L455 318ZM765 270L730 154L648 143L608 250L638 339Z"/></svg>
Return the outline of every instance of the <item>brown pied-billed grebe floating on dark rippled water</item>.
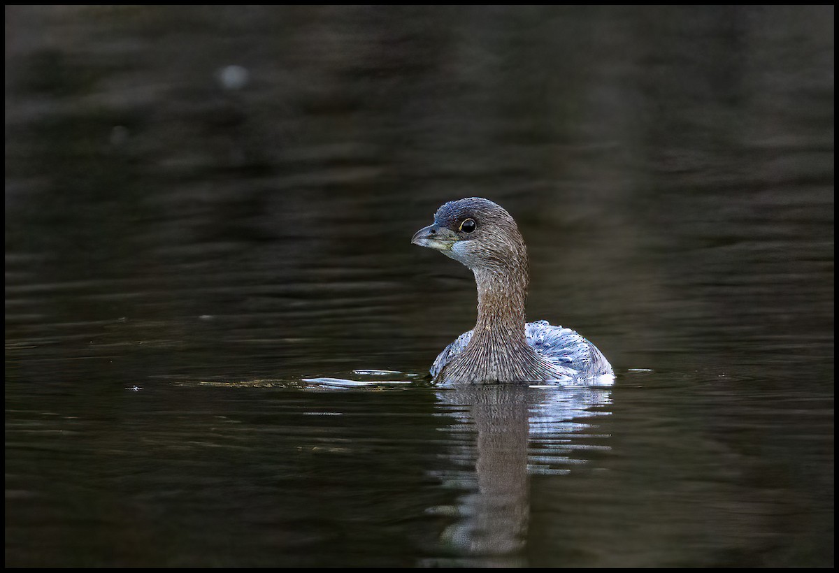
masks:
<svg viewBox="0 0 839 573"><path fill-rule="evenodd" d="M492 201L450 201L411 239L475 273L477 324L434 361L441 383L611 383L602 352L568 328L525 323L528 258L513 217Z"/></svg>

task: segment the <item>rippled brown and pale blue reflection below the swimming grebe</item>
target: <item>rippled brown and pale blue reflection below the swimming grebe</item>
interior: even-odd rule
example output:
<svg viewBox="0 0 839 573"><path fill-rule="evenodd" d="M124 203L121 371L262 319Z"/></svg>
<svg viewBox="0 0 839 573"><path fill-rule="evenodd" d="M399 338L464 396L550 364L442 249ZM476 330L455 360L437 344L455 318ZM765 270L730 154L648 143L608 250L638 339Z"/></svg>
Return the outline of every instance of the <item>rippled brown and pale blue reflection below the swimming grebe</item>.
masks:
<svg viewBox="0 0 839 573"><path fill-rule="evenodd" d="M468 565L517 565L527 538L529 474L563 473L581 462L570 457L581 457L574 437L591 435L586 418L609 414L610 392L491 385L437 396L453 418L448 455L462 468L441 477L467 492L443 542Z"/></svg>

